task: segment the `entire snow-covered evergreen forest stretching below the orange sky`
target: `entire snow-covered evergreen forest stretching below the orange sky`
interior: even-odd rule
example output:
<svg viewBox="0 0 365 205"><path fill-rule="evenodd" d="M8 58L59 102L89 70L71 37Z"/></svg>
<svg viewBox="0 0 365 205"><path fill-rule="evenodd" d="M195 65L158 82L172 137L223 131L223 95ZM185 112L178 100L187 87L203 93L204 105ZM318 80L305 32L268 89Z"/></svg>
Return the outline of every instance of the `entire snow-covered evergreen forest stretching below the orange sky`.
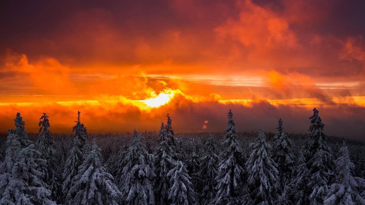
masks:
<svg viewBox="0 0 365 205"><path fill-rule="evenodd" d="M48 115L28 134L20 113L0 141L0 205L360 205L364 143L329 137L314 108L309 134L236 130L51 134ZM33 143L34 142L34 143Z"/></svg>

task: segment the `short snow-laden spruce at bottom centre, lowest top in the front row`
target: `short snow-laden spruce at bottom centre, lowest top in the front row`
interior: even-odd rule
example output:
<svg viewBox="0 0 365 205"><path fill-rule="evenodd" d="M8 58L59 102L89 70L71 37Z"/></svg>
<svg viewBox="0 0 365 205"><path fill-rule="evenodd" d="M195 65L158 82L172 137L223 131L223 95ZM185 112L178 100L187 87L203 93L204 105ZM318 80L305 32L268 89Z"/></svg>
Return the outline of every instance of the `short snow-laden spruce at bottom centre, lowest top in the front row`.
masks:
<svg viewBox="0 0 365 205"><path fill-rule="evenodd" d="M195 202L195 192L190 182L191 177L183 162L177 161L176 166L169 171L169 200L171 205L192 205Z"/></svg>

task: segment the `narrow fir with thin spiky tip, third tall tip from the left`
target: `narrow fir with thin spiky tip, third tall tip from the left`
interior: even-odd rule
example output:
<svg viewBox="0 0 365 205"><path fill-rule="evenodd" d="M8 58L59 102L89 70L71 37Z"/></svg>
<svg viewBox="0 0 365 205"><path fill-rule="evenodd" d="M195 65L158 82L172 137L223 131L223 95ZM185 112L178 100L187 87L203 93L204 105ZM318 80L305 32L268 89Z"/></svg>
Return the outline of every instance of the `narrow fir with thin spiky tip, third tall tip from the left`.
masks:
<svg viewBox="0 0 365 205"><path fill-rule="evenodd" d="M73 178L77 174L78 167L82 165L85 154L84 146L87 139L87 130L84 124L80 121L80 111L77 112L77 121L75 122L76 125L72 128L72 132L74 132L73 144L66 160L64 173L62 174L62 177L64 178L64 182L62 183L62 193L64 196L66 196L69 192L73 184Z"/></svg>

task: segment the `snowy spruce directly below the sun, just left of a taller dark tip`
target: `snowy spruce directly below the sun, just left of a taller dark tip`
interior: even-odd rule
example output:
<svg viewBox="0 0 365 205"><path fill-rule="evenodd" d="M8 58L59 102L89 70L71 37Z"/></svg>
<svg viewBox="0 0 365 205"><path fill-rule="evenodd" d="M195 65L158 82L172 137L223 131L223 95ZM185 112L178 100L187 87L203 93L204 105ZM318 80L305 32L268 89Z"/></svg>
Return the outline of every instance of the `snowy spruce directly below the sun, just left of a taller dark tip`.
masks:
<svg viewBox="0 0 365 205"><path fill-rule="evenodd" d="M155 156L154 173L156 175L153 181L153 187L155 188L155 201L156 204L168 205L169 203L169 192L170 178L168 173L175 167L175 162L172 158L173 150L170 147L170 138L166 132L164 122L161 123L160 132L160 143L158 144Z"/></svg>

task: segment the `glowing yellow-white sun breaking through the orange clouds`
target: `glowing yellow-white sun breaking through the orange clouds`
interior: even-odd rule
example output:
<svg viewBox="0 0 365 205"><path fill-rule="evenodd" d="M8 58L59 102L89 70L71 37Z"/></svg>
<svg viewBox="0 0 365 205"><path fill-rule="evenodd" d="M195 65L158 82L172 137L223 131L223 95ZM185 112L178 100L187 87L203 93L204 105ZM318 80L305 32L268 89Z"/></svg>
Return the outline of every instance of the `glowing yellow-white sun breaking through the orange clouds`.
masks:
<svg viewBox="0 0 365 205"><path fill-rule="evenodd" d="M174 97L174 94L175 91L172 89L164 89L158 94L153 91L151 92L151 98L139 101L147 108L157 108L168 103Z"/></svg>

